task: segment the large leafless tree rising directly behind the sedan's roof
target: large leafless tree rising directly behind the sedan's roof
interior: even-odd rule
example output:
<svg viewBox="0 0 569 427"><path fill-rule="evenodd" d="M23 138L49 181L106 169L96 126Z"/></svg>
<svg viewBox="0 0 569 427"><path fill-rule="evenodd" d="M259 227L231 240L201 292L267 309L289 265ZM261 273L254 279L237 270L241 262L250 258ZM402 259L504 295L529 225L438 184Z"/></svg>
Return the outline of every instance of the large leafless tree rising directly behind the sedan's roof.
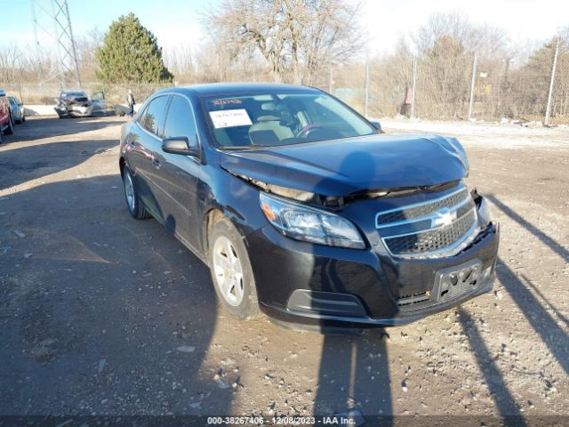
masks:
<svg viewBox="0 0 569 427"><path fill-rule="evenodd" d="M311 84L331 61L361 50L358 11L344 0L223 0L205 24L235 57L258 50L273 80Z"/></svg>

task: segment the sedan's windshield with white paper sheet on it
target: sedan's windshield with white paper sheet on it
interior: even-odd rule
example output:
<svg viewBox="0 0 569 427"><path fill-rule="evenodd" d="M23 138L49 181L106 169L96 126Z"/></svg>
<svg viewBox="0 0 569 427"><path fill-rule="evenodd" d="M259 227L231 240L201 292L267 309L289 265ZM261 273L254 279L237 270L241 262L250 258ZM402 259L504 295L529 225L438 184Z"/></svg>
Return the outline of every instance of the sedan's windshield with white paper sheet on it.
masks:
<svg viewBox="0 0 569 427"><path fill-rule="evenodd" d="M210 97L205 108L222 148L283 146L377 133L325 93L262 93Z"/></svg>

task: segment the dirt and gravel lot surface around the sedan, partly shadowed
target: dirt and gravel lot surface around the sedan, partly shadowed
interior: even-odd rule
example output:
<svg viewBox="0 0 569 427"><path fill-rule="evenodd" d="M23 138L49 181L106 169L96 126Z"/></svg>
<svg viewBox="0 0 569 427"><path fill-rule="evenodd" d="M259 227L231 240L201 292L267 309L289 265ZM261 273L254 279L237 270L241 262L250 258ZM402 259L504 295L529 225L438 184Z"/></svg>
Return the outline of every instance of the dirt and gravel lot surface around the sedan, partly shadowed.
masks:
<svg viewBox="0 0 569 427"><path fill-rule="evenodd" d="M460 135L501 222L498 280L335 336L220 310L204 264L127 213L123 122L30 117L0 145L1 415L567 415L569 130L384 122Z"/></svg>

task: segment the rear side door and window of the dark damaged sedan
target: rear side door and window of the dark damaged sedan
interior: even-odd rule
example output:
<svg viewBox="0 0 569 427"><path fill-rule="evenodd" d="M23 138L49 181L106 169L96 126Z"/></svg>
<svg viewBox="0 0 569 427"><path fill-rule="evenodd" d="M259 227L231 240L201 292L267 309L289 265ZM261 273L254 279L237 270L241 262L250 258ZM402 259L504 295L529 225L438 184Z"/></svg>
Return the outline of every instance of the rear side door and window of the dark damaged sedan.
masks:
<svg viewBox="0 0 569 427"><path fill-rule="evenodd" d="M129 167L133 173L134 185L140 198L154 216L164 218L161 206L156 197L156 176L159 163L156 153L162 151L162 134L164 131L164 117L169 95L161 95L148 103L131 132L126 135L129 144Z"/></svg>

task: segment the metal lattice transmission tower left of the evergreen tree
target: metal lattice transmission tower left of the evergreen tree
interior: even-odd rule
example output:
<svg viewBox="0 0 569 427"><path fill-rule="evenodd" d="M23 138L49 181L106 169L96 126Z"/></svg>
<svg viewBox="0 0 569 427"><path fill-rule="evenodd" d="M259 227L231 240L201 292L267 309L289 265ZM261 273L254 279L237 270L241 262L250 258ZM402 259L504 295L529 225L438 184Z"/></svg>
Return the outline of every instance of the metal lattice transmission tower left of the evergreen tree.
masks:
<svg viewBox="0 0 569 427"><path fill-rule="evenodd" d="M67 0L31 0L36 48L53 49L57 63L44 77L44 82L59 80L61 87L69 83L82 87L79 61ZM52 28L52 29L51 29ZM47 45L46 45L47 44ZM51 44L51 46L50 46Z"/></svg>

